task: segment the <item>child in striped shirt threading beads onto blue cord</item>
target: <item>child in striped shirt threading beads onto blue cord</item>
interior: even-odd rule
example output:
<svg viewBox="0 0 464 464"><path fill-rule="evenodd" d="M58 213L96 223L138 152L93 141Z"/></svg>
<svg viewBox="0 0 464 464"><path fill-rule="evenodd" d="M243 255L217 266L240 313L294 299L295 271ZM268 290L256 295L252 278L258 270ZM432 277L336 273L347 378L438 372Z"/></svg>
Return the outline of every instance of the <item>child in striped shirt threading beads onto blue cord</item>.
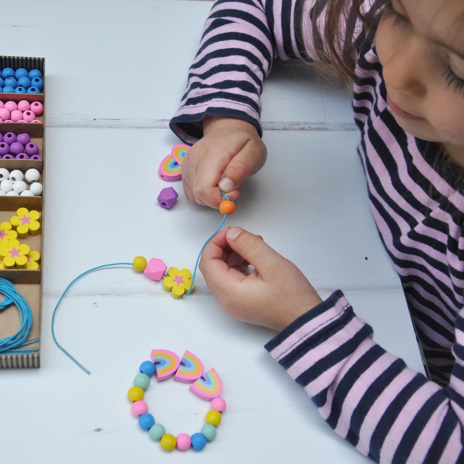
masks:
<svg viewBox="0 0 464 464"><path fill-rule="evenodd" d="M273 58L354 79L374 218L400 275L431 380L373 341L341 290L237 227L200 264L233 317L281 332L266 349L337 433L382 463L464 462L464 2L219 0L171 121L194 143L187 198L218 207L264 164L259 95ZM248 264L254 270L247 272Z"/></svg>

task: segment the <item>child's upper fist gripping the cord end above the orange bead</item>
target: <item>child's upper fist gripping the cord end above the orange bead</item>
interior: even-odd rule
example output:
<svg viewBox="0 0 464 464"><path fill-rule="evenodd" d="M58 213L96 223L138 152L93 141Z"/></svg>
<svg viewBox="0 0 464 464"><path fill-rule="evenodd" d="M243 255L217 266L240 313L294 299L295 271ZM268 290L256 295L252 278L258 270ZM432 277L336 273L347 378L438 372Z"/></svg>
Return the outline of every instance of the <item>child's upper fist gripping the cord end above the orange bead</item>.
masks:
<svg viewBox="0 0 464 464"><path fill-rule="evenodd" d="M236 199L242 182L264 166L267 150L256 128L241 119L206 116L203 134L184 158L182 183L190 203L219 208L220 190Z"/></svg>

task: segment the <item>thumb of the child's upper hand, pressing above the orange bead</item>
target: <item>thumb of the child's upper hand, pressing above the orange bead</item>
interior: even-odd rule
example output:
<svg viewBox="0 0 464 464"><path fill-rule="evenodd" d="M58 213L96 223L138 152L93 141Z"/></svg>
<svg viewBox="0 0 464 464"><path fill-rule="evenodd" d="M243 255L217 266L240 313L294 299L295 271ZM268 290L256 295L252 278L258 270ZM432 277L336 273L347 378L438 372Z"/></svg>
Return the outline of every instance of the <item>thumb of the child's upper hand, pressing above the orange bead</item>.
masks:
<svg viewBox="0 0 464 464"><path fill-rule="evenodd" d="M254 150L254 152L253 152ZM235 155L224 169L218 187L225 193L232 192L251 174L255 174L264 165L264 159L257 160L256 146L248 142Z"/></svg>

